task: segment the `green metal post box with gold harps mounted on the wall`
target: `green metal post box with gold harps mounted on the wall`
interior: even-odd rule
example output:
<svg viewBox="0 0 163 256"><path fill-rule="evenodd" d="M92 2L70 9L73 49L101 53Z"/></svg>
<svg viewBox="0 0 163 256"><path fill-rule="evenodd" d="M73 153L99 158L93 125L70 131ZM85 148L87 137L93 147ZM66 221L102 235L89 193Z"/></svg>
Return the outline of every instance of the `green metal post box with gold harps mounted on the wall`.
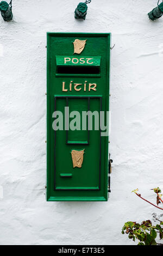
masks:
<svg viewBox="0 0 163 256"><path fill-rule="evenodd" d="M81 129L83 111L99 116L103 111L106 119L110 37L110 33L47 33L48 201L108 200L109 135L101 136L100 121L97 129L93 116L92 129L88 124L83 130L68 129L73 120L68 115L79 112ZM55 111L63 114L63 129L53 127Z"/></svg>

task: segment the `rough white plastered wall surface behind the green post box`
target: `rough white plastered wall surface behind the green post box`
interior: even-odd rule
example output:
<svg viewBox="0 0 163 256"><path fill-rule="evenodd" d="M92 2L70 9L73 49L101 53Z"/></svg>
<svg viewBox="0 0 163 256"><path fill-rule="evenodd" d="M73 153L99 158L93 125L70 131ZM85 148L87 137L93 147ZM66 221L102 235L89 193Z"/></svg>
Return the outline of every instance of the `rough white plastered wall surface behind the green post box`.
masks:
<svg viewBox="0 0 163 256"><path fill-rule="evenodd" d="M149 188L162 186L163 19L147 16L157 1L92 0L85 21L78 2L14 0L14 21L0 19L1 245L133 244L123 223L161 213L131 193L154 202ZM46 202L46 32L112 33L108 202Z"/></svg>

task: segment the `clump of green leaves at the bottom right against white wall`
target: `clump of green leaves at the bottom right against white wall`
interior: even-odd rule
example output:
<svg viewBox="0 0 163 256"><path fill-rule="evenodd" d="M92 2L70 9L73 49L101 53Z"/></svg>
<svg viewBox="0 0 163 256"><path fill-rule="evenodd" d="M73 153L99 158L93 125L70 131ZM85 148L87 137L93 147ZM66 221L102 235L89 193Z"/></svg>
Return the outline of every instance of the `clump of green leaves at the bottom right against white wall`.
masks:
<svg viewBox="0 0 163 256"><path fill-rule="evenodd" d="M141 224L136 222L126 222L122 228L122 234L128 234L129 239L137 239L138 245L156 245L156 237L159 234L160 239L163 239L163 228L160 225L152 225L150 220L143 221Z"/></svg>

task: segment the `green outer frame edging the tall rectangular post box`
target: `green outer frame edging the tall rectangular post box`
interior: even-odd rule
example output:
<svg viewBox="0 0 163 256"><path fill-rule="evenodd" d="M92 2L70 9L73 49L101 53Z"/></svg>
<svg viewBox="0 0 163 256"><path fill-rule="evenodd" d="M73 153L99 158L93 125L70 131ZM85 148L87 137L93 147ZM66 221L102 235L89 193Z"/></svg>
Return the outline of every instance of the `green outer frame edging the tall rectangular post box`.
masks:
<svg viewBox="0 0 163 256"><path fill-rule="evenodd" d="M105 158L105 172L104 172L104 194L103 197L86 197L86 196L80 196L81 194L79 193L79 196L74 196L74 197L67 197L66 194L64 197L58 197L58 196L52 196L51 194L51 161L52 161L52 155L51 155L51 132L50 132L50 125L51 125L51 82L50 82L50 77L51 77L51 69L50 69L50 59L51 59L51 45L50 45L50 40L51 36L70 36L70 37L80 37L80 36L85 36L85 38L89 38L90 36L96 36L96 37L106 37L107 38L107 63L106 63L106 70L108 76L106 76L106 88L108 88L108 91L106 92L105 95L105 111L109 111L109 84L110 84L110 45L111 45L111 33L47 33L47 201L107 201L108 200L108 185L110 184L109 180L109 154L108 154L108 148L109 148L109 135L105 137L105 154L103 156L100 155L101 157ZM73 77L101 77L100 74L73 74ZM72 74L55 74L55 77L72 77ZM66 97L66 95L54 95L54 99L56 100L56 97ZM71 97L71 95L68 95L68 97ZM73 97L73 93L72 93ZM77 96L76 96L77 97ZM87 93L86 95L80 95L79 97L93 97L92 95L89 95ZM102 96L101 95L95 95L95 97L99 97L100 102L102 101ZM56 131L54 131L56 133ZM89 133L89 131L88 131ZM55 135L56 136L56 135ZM101 137L101 136L100 136ZM89 139L89 137L88 137ZM67 135L66 135L66 142L67 142ZM74 148L76 145L74 145ZM84 147L84 145L83 145ZM99 183L100 183L100 176L99 176ZM55 187L55 185L54 185ZM100 187L99 187L100 189ZM72 190L73 191L73 190Z"/></svg>

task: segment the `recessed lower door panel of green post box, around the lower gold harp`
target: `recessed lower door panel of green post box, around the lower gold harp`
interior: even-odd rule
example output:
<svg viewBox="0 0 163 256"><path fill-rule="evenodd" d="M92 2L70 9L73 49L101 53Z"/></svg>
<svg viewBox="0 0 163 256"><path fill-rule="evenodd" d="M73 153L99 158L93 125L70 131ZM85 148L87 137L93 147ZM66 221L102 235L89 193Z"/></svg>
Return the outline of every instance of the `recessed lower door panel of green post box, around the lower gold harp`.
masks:
<svg viewBox="0 0 163 256"><path fill-rule="evenodd" d="M57 97L57 96L56 96ZM59 101L63 101L64 99L60 99ZM98 97L96 99L91 99L90 97L90 110L93 111L100 111L100 100L101 97ZM57 100L58 101L58 100ZM68 97L68 102L72 101L72 104L74 102L74 108L76 110L77 106L77 99ZM87 99L80 99L78 101L78 108L79 105L81 106L81 109L83 110L83 106L86 106L85 110L87 110ZM86 102L85 102L86 101ZM72 105L70 104L72 110ZM56 110L58 111L61 109L60 105L57 105ZM80 141L82 141L83 136L80 135L80 132L86 132L86 138L87 143L89 143L89 138L87 136L87 131L68 131L68 133L72 133L71 136L74 134L74 139L78 138ZM79 134L78 134L79 133ZM78 135L78 136L77 136ZM101 172L100 168L100 131L89 131L89 137L91 136L91 143L87 145L79 145L80 141L71 142L69 141L68 145L65 145L66 143L66 131L57 131L56 132L56 144L55 144L55 189L61 190L61 189L67 189L67 190L99 190L99 175ZM68 136L69 138L69 136ZM96 139L93 139L96 138ZM65 140L65 141L64 141ZM62 147L61 147L61 142ZM64 147L65 146L65 147ZM83 150L84 149L84 160L82 164L82 168L75 167L73 168L72 159L71 159L71 150ZM92 156L94 161L92 160ZM63 161L64 159L64 161ZM67 179L61 179L60 173L72 173L73 177L71 180Z"/></svg>

